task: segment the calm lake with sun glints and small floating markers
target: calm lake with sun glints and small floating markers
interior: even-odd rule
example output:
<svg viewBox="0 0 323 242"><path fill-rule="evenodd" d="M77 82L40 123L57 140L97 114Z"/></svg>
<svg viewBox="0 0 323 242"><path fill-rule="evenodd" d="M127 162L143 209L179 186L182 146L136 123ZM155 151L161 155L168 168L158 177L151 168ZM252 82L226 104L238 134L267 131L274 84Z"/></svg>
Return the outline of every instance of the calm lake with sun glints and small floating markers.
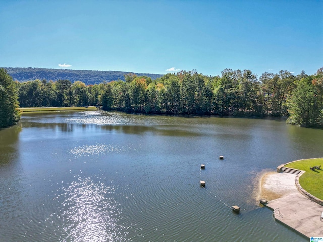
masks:
<svg viewBox="0 0 323 242"><path fill-rule="evenodd" d="M258 177L322 147L285 119L24 114L0 130L0 241L308 241Z"/></svg>

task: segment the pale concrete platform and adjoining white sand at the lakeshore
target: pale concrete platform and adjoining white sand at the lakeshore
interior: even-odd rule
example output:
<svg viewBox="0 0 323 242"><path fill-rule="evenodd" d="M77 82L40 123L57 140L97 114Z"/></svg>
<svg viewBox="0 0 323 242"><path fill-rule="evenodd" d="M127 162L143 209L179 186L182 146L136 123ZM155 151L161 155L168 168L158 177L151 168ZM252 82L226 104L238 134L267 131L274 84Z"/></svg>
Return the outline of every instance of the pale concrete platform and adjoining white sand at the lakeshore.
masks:
<svg viewBox="0 0 323 242"><path fill-rule="evenodd" d="M265 206L273 210L275 219L304 236L323 237L323 219L321 219L323 206L301 194L298 183L301 174L276 173L273 174L274 177L268 178L266 184L271 183L277 190L285 185L288 192L278 199L267 202ZM280 181L277 181L278 179ZM290 186L292 184L294 186Z"/></svg>

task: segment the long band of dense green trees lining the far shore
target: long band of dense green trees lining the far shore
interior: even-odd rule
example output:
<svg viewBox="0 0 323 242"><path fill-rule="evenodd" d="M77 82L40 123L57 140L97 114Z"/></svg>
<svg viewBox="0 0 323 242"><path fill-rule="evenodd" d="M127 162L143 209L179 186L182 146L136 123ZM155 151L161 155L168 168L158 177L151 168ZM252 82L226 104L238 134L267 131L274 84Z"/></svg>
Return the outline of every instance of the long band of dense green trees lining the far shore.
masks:
<svg viewBox="0 0 323 242"><path fill-rule="evenodd" d="M33 80L16 82L21 107L89 106L147 114L288 116L288 122L323 127L323 68L263 73L225 69L220 76L192 71L169 73L153 80L127 74L124 80L84 82Z"/></svg>

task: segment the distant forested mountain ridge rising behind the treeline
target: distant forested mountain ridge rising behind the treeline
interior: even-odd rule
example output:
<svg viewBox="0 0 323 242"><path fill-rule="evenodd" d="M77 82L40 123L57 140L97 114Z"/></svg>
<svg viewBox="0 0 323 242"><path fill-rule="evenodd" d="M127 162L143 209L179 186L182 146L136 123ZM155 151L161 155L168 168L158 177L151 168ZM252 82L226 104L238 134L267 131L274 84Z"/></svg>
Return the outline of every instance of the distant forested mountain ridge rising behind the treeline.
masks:
<svg viewBox="0 0 323 242"><path fill-rule="evenodd" d="M92 70L71 70L71 69L49 69L49 68L34 68L34 67L4 67L8 74L19 82L30 80L70 80L72 83L75 81L84 82L86 85L99 84L104 81L111 82L117 80L125 80L124 75L133 72L120 72L120 71L92 71ZM163 75L150 74L150 73L133 73L137 76L148 76L152 79L157 79Z"/></svg>

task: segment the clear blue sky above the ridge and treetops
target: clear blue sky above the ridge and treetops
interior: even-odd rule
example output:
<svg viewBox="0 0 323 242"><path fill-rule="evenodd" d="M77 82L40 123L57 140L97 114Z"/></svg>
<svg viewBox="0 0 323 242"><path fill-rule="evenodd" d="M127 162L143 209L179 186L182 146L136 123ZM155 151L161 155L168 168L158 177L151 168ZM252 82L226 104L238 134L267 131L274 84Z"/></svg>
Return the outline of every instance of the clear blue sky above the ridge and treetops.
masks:
<svg viewBox="0 0 323 242"><path fill-rule="evenodd" d="M0 67L137 73L323 66L323 1L0 0Z"/></svg>

